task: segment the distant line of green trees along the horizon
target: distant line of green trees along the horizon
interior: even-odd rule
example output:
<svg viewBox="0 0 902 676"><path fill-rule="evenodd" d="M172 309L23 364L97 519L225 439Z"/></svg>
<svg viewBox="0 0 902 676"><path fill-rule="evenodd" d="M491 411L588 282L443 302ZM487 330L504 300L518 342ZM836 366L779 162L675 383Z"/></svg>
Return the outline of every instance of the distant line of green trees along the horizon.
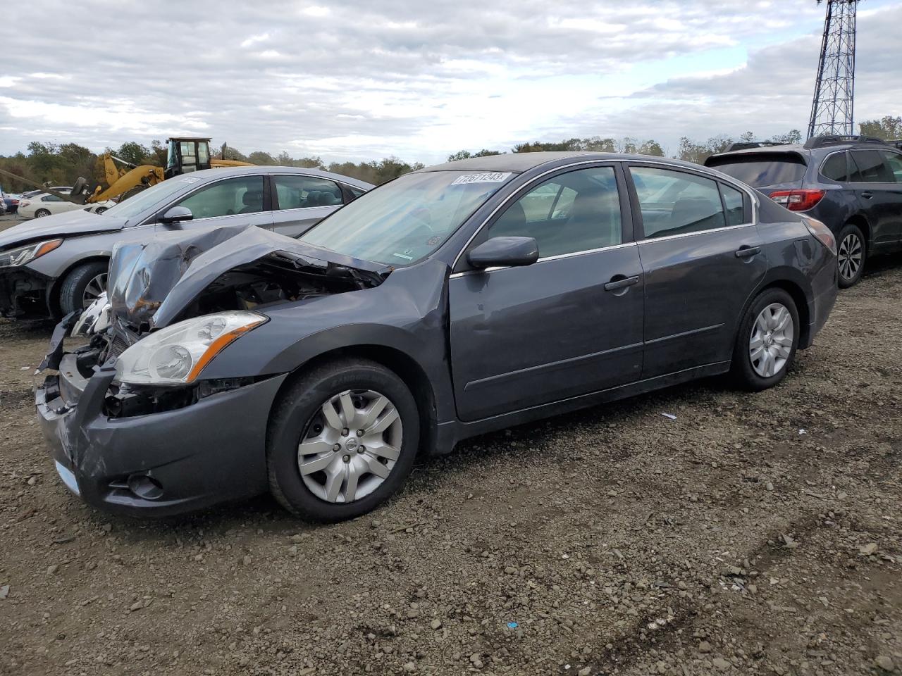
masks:
<svg viewBox="0 0 902 676"><path fill-rule="evenodd" d="M860 133L867 136L876 136L882 139L899 139L902 138L902 117L885 115L879 119L867 120L859 124L859 130ZM710 155L725 151L732 142L751 141L753 139L755 139L755 135L752 132L745 132L735 139L726 135L713 136L704 142L683 137L679 140L672 157L701 164ZM794 129L785 134L772 136L767 140L798 143L802 141L802 132ZM664 147L652 139L642 141L632 137L614 139L611 137L592 136L583 139L571 138L557 142L524 142L506 150L462 150L449 155L448 161L484 157L486 155L501 155L504 152L538 151L628 152L658 157L667 155ZM126 142L117 149L107 148L106 152L135 165L152 164L163 167L166 164L166 146L158 140L153 140L150 145L143 145L140 142ZM27 152L20 151L14 155L0 156L0 168L25 178L30 178L40 183L50 183L51 185L68 186L76 178L85 177L89 181L106 186L103 154L90 151L84 146L78 145L78 143L57 144L33 141L28 144ZM214 157L221 158L221 155L222 152L219 151L214 154ZM245 155L234 148L226 149L226 159L242 160L259 165L326 169L336 174L359 178L375 185L423 167L423 164L420 162L408 162L396 157L362 162L330 162L327 164L318 156L294 158L286 151L282 151L274 157L264 151L253 151ZM0 186L3 186L7 192L20 192L32 188L32 186L25 184L23 181L15 181L5 177L0 177Z"/></svg>

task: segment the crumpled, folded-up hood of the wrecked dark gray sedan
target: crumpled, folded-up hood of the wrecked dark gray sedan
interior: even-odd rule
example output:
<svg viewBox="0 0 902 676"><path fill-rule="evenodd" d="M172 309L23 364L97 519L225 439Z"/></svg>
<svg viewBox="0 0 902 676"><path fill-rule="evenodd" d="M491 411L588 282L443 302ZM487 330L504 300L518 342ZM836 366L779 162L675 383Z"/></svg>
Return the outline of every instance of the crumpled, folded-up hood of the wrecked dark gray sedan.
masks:
<svg viewBox="0 0 902 676"><path fill-rule="evenodd" d="M255 225L163 233L150 242L115 245L107 286L112 318L136 328L166 326L223 274L267 257L372 286L391 271Z"/></svg>

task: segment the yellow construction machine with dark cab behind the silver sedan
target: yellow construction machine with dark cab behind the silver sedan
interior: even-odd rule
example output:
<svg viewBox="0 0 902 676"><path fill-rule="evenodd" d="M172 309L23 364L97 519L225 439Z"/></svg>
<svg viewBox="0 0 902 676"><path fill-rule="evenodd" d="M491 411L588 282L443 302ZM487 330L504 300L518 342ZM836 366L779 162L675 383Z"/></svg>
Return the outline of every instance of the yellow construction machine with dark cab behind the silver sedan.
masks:
<svg viewBox="0 0 902 676"><path fill-rule="evenodd" d="M167 178L186 174L190 171L201 169L216 169L220 167L250 167L250 162L239 160L217 160L210 158L210 140L201 138L171 138L166 140L166 166L156 167L152 164L136 166L131 162L117 158L111 153L102 155L104 160L104 174L107 187L90 187L87 178L78 178L69 193L61 193L51 187L19 176L5 169L0 169L0 174L30 183L35 187L51 195L58 196L68 202L78 205L90 205L103 202L107 199L125 199L144 188L155 186ZM222 157L226 157L226 144L223 143Z"/></svg>

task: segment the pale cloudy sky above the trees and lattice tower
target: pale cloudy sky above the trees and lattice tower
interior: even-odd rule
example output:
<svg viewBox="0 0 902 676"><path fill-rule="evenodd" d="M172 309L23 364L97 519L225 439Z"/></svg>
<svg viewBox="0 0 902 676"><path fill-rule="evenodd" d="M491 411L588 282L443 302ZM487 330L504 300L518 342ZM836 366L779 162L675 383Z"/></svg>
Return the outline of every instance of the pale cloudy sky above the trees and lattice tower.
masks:
<svg viewBox="0 0 902 676"><path fill-rule="evenodd" d="M0 154L204 135L324 160L805 129L815 0L33 0L0 16ZM902 114L902 0L859 8L856 120Z"/></svg>

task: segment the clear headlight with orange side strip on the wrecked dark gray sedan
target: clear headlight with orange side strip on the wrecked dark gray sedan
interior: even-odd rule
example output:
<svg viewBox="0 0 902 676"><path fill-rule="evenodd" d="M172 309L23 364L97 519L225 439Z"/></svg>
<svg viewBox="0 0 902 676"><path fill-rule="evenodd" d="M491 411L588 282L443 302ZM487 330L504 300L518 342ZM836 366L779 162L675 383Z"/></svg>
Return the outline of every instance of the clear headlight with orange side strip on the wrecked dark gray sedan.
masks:
<svg viewBox="0 0 902 676"><path fill-rule="evenodd" d="M184 385L242 333L267 318L233 310L172 324L134 343L119 355L115 379L133 385Z"/></svg>

